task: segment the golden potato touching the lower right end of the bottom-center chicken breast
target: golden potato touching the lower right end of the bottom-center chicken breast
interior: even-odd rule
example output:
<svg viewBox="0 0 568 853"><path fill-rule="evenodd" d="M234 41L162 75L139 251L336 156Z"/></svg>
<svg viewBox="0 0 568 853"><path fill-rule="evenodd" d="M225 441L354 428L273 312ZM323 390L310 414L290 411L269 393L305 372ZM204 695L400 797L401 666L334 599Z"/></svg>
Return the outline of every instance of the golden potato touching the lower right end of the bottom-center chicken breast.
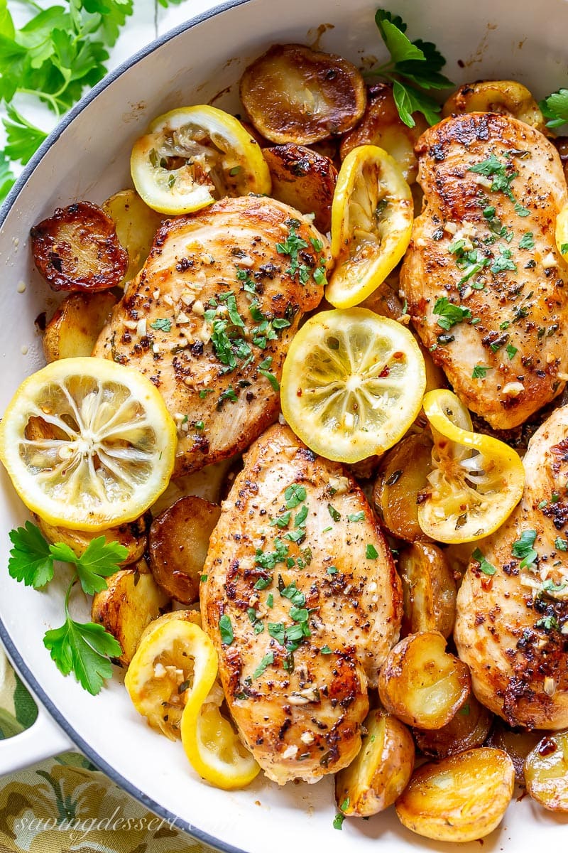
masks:
<svg viewBox="0 0 568 853"><path fill-rule="evenodd" d="M412 737L396 717L376 708L369 712L364 728L367 734L361 751L336 775L337 808L357 817L376 815L392 805L414 769Z"/></svg>

